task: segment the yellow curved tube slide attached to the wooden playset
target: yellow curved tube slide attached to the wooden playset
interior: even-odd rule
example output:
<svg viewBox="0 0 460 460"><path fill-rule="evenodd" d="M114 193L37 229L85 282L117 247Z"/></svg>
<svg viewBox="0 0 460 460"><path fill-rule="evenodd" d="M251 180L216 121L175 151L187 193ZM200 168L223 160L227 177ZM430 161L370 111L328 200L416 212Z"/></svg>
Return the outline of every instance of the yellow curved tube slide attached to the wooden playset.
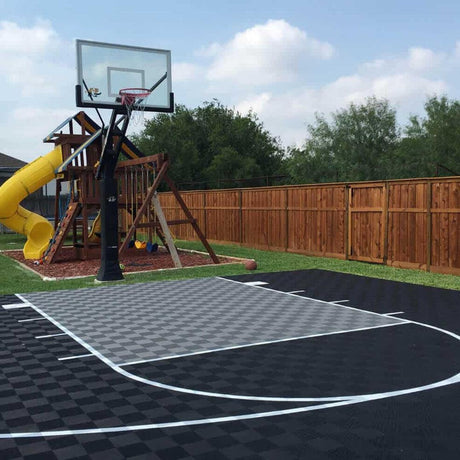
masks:
<svg viewBox="0 0 460 460"><path fill-rule="evenodd" d="M40 259L53 237L54 227L39 214L24 209L19 203L56 177L62 163L62 149L54 150L21 168L0 186L0 223L27 236L26 259Z"/></svg>

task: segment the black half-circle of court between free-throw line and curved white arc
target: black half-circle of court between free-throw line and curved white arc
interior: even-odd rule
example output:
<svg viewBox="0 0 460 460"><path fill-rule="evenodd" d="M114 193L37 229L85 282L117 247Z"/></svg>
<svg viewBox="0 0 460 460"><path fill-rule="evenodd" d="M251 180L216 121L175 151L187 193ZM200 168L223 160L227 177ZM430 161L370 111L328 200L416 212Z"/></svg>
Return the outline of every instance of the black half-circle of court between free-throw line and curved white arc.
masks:
<svg viewBox="0 0 460 460"><path fill-rule="evenodd" d="M170 385L253 396L380 393L443 380L460 369L460 342L414 324L312 337L128 366Z"/></svg>

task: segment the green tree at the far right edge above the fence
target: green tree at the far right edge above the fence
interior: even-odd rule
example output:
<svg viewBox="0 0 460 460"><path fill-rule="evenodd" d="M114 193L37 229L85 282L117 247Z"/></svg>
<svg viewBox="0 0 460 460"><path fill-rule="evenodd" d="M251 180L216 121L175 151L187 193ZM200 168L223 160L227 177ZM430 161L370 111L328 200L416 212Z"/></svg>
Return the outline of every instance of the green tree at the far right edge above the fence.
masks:
<svg viewBox="0 0 460 460"><path fill-rule="evenodd" d="M397 150L395 177L460 174L460 102L431 97L426 117L412 116Z"/></svg>

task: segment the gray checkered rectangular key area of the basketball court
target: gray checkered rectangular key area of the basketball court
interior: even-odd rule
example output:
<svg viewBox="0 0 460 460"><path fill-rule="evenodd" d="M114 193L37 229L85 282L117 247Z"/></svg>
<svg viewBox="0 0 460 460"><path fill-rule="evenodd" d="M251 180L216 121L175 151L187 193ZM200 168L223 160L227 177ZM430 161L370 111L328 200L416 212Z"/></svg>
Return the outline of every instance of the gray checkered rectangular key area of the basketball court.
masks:
<svg viewBox="0 0 460 460"><path fill-rule="evenodd" d="M220 278L23 297L115 364L403 322Z"/></svg>

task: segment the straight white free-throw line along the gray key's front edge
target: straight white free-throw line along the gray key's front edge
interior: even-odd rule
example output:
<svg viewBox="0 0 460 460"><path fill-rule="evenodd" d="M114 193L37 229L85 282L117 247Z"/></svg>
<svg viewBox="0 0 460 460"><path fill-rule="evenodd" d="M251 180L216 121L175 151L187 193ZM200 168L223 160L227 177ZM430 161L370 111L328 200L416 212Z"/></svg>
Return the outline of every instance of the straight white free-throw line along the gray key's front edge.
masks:
<svg viewBox="0 0 460 460"><path fill-rule="evenodd" d="M346 329L346 330L342 330L342 331L323 332L323 333L320 333L320 334L302 335L300 337L288 337L286 339L276 339L276 340L266 340L264 342L245 343L243 345L234 345L234 346L231 346L231 347L214 348L212 350L196 351L194 353L184 353L183 355L171 355L171 356L165 356L165 357L161 357L161 358L141 359L139 361L130 361L130 362L121 363L121 364L117 363L117 366L120 366L120 367L133 366L134 364L153 363L155 361L166 361L167 359L186 358L186 357L189 357L189 356L205 355L207 353L217 353L219 351L237 350L239 348L247 348L247 347L258 347L260 345L271 345L273 343L292 342L294 340L311 339L313 337L324 337L326 335L347 334L347 333L350 333L350 332L368 331L370 329L379 329L379 328L382 328L382 327L401 326L403 324L406 324L406 323L401 322L401 323L393 323L393 324L380 324L378 326L368 326L368 327L361 327L361 328L357 328L357 329Z"/></svg>

